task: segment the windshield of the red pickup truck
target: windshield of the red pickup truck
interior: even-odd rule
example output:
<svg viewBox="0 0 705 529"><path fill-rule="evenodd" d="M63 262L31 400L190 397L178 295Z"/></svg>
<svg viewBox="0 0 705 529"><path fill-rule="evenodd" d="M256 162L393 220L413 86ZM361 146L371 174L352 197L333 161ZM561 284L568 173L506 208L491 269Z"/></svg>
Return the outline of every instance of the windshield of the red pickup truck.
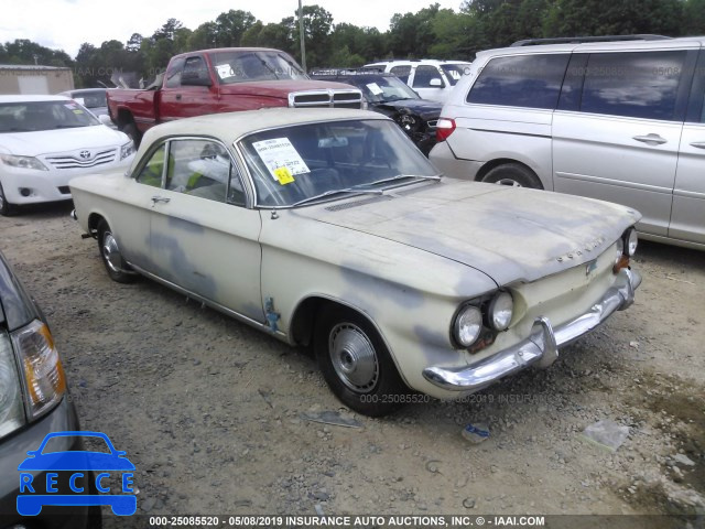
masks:
<svg viewBox="0 0 705 529"><path fill-rule="evenodd" d="M296 62L275 51L214 52L210 61L223 85L250 80L307 79Z"/></svg>

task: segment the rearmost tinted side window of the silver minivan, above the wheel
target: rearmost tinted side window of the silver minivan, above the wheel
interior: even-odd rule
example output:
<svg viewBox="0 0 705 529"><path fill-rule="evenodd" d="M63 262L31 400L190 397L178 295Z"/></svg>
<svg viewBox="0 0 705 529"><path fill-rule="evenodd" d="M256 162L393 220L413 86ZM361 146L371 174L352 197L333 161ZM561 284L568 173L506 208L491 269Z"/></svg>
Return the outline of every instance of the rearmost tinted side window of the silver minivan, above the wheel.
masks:
<svg viewBox="0 0 705 529"><path fill-rule="evenodd" d="M487 63L467 102L554 109L570 54L517 55Z"/></svg>

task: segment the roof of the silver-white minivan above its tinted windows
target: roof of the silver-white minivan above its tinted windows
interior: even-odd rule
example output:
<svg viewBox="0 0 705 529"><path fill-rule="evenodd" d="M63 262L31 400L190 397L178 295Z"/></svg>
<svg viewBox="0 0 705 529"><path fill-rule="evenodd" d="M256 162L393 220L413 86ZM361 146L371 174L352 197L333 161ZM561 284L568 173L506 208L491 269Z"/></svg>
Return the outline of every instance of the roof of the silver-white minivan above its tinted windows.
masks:
<svg viewBox="0 0 705 529"><path fill-rule="evenodd" d="M604 41L565 44L536 44L530 46L497 47L477 53L477 57L489 55L534 55L542 53L571 53L590 51L644 51L679 50L682 47L704 47L705 36L682 36L677 39L660 39L653 41Z"/></svg>

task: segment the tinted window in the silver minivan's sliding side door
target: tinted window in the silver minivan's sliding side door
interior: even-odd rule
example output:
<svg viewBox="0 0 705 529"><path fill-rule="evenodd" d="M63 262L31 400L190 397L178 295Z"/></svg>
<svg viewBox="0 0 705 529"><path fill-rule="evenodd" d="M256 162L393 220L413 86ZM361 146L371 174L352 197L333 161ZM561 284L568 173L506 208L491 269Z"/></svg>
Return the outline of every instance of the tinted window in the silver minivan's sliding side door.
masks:
<svg viewBox="0 0 705 529"><path fill-rule="evenodd" d="M581 110L674 120L685 56L685 51L590 54Z"/></svg>

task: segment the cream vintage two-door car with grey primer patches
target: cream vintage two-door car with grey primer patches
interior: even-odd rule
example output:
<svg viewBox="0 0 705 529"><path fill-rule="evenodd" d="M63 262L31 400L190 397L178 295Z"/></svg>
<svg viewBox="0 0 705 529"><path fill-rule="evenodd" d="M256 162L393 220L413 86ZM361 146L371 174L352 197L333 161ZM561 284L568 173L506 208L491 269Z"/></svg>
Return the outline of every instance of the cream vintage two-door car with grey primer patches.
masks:
<svg viewBox="0 0 705 529"><path fill-rule="evenodd" d="M135 272L290 344L382 415L529 366L633 301L639 213L445 179L388 118L268 109L150 130L70 182L110 277Z"/></svg>

